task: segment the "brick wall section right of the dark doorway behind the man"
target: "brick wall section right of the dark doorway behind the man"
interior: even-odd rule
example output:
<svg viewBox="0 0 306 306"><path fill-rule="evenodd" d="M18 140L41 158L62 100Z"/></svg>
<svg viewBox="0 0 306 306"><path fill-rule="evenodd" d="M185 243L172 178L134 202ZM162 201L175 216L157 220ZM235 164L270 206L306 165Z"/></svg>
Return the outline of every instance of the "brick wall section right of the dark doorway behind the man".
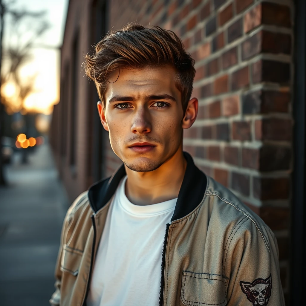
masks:
<svg viewBox="0 0 306 306"><path fill-rule="evenodd" d="M173 30L196 60L184 150L274 231L288 300L293 1L111 2L109 26L136 20ZM108 174L120 162L110 151Z"/></svg>

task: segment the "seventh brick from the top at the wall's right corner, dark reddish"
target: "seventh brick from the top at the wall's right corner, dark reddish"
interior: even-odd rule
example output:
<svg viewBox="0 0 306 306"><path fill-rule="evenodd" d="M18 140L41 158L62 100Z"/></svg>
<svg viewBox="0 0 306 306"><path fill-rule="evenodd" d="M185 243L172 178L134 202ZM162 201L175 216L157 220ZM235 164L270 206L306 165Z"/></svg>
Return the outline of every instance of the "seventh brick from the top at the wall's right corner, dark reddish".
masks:
<svg viewBox="0 0 306 306"><path fill-rule="evenodd" d="M253 196L259 200L284 200L289 198L287 177L253 177Z"/></svg>

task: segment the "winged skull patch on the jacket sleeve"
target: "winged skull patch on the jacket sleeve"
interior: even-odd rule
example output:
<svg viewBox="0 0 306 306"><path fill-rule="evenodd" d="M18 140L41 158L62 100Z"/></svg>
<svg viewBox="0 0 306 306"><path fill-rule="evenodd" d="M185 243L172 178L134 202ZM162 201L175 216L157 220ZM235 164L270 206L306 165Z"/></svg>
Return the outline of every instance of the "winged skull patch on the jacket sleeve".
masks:
<svg viewBox="0 0 306 306"><path fill-rule="evenodd" d="M267 306L271 297L272 278L256 278L252 283L240 281L241 290L253 306Z"/></svg>

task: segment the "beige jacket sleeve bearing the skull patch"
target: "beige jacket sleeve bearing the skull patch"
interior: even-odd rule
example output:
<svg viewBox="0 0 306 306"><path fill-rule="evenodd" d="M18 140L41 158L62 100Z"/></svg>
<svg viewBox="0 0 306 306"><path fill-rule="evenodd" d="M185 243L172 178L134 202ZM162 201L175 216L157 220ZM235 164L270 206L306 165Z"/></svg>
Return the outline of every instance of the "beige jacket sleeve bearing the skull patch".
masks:
<svg viewBox="0 0 306 306"><path fill-rule="evenodd" d="M245 217L233 230L226 249L228 306L285 306L278 245L263 222Z"/></svg>

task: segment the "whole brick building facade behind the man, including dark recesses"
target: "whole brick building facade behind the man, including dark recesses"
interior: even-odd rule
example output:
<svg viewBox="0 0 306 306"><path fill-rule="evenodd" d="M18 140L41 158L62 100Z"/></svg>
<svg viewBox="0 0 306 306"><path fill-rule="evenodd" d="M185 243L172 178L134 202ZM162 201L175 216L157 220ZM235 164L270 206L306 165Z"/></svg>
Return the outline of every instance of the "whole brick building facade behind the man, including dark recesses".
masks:
<svg viewBox="0 0 306 306"><path fill-rule="evenodd" d="M303 85L297 88L294 81L300 69L295 64L302 60L295 57L295 24L303 26L304 19L297 19L297 8L304 8L302 2L70 0L62 45L61 98L50 132L70 199L121 164L100 123L95 86L81 70L83 54L91 53L111 28L128 22L170 29L180 35L196 61L192 96L199 99L199 114L192 128L184 131L184 150L274 231L286 302L297 305L293 284L298 276L292 259L298 242L291 237L304 227L294 227L296 219L292 222L290 212L297 200L294 177L299 169L294 165L302 160L296 158L296 142L301 140L294 128L295 112L303 111L305 104ZM294 92L299 90L302 102L295 108ZM299 135L304 135L301 129Z"/></svg>

